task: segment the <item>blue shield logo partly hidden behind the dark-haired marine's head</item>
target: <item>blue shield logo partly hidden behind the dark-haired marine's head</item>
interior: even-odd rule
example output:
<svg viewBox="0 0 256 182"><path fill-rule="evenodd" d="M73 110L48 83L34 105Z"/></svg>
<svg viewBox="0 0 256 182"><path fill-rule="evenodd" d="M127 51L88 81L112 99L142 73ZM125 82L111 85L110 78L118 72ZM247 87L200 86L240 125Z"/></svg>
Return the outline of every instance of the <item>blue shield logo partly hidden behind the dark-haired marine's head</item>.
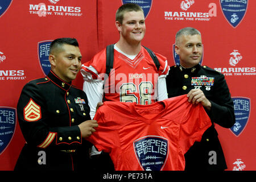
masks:
<svg viewBox="0 0 256 182"><path fill-rule="evenodd" d="M51 70L51 63L49 63L49 47L52 40L44 40L38 43L38 60L44 75L48 75Z"/></svg>

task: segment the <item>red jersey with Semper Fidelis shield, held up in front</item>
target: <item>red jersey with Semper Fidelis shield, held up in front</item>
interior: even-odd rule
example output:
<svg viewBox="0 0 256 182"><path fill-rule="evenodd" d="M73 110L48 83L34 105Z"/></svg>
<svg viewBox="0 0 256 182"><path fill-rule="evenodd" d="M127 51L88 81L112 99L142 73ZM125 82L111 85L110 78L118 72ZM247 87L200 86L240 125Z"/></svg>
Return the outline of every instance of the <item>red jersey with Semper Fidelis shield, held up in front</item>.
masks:
<svg viewBox="0 0 256 182"><path fill-rule="evenodd" d="M104 102L94 119L98 127L88 140L122 171L184 170L185 152L211 126L204 107L186 95L151 105Z"/></svg>

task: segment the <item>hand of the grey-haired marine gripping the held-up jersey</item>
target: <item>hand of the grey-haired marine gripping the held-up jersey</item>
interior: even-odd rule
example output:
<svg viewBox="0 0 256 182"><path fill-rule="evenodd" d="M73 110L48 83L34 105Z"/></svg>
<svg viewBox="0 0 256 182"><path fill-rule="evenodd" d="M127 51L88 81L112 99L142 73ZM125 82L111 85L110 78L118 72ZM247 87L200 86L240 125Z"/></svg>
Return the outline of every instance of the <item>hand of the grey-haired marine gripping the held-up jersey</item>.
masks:
<svg viewBox="0 0 256 182"><path fill-rule="evenodd" d="M187 94L188 102L192 102L192 104L201 104L205 107L205 109L210 110L212 104L210 101L205 97L204 92L200 89L192 89Z"/></svg>

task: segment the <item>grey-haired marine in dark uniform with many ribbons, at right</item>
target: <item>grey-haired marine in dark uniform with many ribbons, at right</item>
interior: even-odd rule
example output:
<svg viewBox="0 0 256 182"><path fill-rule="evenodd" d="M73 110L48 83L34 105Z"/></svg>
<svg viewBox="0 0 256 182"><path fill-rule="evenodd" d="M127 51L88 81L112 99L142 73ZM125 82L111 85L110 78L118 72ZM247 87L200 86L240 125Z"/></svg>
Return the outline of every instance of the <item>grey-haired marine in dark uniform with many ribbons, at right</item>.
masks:
<svg viewBox="0 0 256 182"><path fill-rule="evenodd" d="M195 28L186 27L177 32L175 52L180 64L171 67L166 78L168 97L187 94L189 102L204 106L212 121L201 142L196 142L185 154L185 170L224 170L227 166L214 125L229 128L235 122L233 100L225 77L200 65L203 43L201 33Z"/></svg>

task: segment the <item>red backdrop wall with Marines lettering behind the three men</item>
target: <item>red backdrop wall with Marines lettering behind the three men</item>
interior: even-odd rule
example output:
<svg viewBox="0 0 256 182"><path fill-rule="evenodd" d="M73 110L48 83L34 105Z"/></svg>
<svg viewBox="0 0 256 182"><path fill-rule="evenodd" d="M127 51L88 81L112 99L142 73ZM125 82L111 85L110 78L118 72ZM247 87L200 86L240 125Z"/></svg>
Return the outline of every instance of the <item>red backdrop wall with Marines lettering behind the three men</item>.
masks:
<svg viewBox="0 0 256 182"><path fill-rule="evenodd" d="M224 73L235 103L236 125L232 129L216 125L228 170L255 170L256 1L137 2L146 12L143 45L166 56L170 65L175 64L172 46L176 32L183 27L201 32L202 64ZM26 82L44 77L40 59L47 57L48 46L40 43L74 37L80 43L82 61L88 61L106 45L118 41L114 19L122 3L126 1L0 2L0 170L13 170L24 144L16 104ZM73 84L82 88L81 75Z"/></svg>

